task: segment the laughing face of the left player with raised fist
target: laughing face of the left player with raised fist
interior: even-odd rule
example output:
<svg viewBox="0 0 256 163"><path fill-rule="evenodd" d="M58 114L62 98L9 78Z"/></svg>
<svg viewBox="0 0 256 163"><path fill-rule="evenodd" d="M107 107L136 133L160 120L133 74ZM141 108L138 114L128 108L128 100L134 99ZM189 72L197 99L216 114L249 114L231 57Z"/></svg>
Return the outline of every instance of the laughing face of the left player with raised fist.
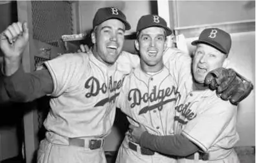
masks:
<svg viewBox="0 0 256 163"><path fill-rule="evenodd" d="M94 56L105 64L117 61L125 41L125 25L118 19L109 19L92 32Z"/></svg>

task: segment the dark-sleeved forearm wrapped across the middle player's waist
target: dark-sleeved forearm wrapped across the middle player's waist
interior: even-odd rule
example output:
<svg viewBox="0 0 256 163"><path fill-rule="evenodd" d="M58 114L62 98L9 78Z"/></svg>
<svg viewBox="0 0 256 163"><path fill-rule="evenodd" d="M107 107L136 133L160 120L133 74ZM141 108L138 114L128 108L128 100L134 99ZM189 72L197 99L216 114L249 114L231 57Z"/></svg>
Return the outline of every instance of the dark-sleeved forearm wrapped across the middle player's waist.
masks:
<svg viewBox="0 0 256 163"><path fill-rule="evenodd" d="M144 132L139 145L152 151L172 156L186 157L198 151L198 147L181 134L156 136Z"/></svg>

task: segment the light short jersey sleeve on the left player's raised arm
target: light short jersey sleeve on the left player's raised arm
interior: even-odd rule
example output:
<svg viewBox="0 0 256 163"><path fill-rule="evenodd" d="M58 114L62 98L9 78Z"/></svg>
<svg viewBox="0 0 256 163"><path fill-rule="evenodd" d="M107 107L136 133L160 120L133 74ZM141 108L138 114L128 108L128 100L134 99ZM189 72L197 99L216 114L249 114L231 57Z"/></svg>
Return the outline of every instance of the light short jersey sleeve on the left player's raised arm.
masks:
<svg viewBox="0 0 256 163"><path fill-rule="evenodd" d="M53 97L66 92L74 82L79 81L81 76L82 66L86 66L87 62L82 53L69 53L59 56L45 62L45 66L48 68L51 78L53 79L53 92L50 94Z"/></svg>

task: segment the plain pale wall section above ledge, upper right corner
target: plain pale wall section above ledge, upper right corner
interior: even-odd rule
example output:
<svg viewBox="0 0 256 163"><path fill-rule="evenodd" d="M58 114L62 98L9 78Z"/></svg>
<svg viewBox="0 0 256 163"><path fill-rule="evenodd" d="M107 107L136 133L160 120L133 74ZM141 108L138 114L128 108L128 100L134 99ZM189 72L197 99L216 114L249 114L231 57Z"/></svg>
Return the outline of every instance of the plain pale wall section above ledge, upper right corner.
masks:
<svg viewBox="0 0 256 163"><path fill-rule="evenodd" d="M174 5L175 27L255 20L255 1L176 1Z"/></svg>

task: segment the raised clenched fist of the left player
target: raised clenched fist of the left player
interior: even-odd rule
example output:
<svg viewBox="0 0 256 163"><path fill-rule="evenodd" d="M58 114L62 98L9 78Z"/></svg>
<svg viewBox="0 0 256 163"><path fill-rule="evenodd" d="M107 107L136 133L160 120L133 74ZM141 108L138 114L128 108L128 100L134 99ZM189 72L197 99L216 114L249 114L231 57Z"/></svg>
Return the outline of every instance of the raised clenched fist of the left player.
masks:
<svg viewBox="0 0 256 163"><path fill-rule="evenodd" d="M4 58L9 59L9 61L20 59L28 42L27 22L24 24L13 23L0 35L0 48L4 53Z"/></svg>

